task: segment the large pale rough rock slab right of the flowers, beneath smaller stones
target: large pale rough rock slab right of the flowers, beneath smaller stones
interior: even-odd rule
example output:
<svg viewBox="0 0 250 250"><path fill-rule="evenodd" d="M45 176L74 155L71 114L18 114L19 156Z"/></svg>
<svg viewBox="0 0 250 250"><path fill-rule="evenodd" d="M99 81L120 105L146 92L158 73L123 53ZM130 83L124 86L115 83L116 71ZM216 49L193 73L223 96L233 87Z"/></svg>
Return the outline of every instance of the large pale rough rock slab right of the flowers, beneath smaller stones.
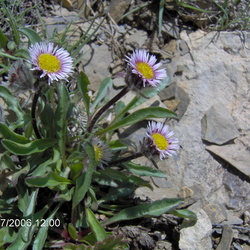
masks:
<svg viewBox="0 0 250 250"><path fill-rule="evenodd" d="M245 32L247 34L249 32ZM247 192L250 185L236 173L228 173L228 164L218 161L207 151L202 140L201 120L207 110L220 103L228 110L239 131L235 145L250 148L250 50L246 48L250 43L245 41L245 46L240 43L237 32L216 35L216 32L203 31L180 34L190 52L183 56L178 51L174 53L168 72L176 89L181 89L189 100L180 120L170 121L182 148L178 156L157 164L166 171L175 187L192 189L196 186L199 199L207 203L220 202L226 208L244 212L250 203ZM232 51L235 47L236 53L228 53L225 46L231 46ZM183 101L181 94L178 100Z"/></svg>

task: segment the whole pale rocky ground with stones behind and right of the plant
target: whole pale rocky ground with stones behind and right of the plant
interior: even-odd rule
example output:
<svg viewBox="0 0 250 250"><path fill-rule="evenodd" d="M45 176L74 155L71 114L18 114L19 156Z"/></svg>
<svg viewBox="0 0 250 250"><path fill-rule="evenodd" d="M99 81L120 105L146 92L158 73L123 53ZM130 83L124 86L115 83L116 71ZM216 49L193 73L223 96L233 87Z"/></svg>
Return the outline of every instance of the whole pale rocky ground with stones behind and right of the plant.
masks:
<svg viewBox="0 0 250 250"><path fill-rule="evenodd" d="M64 1L67 8L50 5L46 17L42 17L49 36L55 30L60 34L79 14L82 7L79 2ZM145 48L163 62L170 84L142 107L160 105L178 114L178 120L168 124L176 132L182 148L178 156L157 162L168 178L153 178L154 191L140 188L135 197L142 200L184 197L185 206L197 214L198 221L182 229L177 218L164 215L127 223L118 230L130 238L131 249L248 250L250 33L237 30L235 26L230 31L211 31L211 27L215 27L211 16L186 9L174 12L174 1L167 1L159 37L157 12L154 11L158 5L149 7L147 1L142 2L144 8L122 19L130 2L111 1L109 6L102 6L108 15L83 47L79 70L88 75L93 94L100 81L111 76L114 89L110 95L113 96L125 84L118 73L124 68L127 53ZM242 11L246 3L241 1L234 11ZM92 20L85 12L94 12L92 7L74 20L78 33L72 39L77 40L89 27ZM213 8L216 6L210 5L210 9ZM102 18L100 14L92 29ZM207 29L201 29L205 25ZM131 100L131 95L123 101ZM145 125L140 123L119 131L119 136L139 139ZM151 164L146 159L139 161Z"/></svg>

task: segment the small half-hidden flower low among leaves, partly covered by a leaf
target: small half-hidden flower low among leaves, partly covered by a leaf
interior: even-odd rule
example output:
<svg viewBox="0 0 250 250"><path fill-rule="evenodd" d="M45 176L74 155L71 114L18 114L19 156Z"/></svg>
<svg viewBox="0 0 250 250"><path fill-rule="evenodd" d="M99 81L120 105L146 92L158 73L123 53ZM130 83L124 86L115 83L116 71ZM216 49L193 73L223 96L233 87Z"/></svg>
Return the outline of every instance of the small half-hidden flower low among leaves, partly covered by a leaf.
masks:
<svg viewBox="0 0 250 250"><path fill-rule="evenodd" d="M113 154L109 146L96 137L92 139L92 145L95 151L96 164L103 168L103 164L111 161Z"/></svg>

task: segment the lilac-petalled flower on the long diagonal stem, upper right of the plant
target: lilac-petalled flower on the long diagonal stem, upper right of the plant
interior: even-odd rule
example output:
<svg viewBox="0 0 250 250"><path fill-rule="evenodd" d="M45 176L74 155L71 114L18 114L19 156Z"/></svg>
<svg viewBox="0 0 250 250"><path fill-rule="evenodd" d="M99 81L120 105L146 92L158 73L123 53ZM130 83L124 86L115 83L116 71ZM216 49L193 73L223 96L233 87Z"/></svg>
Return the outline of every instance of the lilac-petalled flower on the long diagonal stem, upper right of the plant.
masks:
<svg viewBox="0 0 250 250"><path fill-rule="evenodd" d="M159 69L162 63L156 63L156 57L149 55L146 50L135 50L131 57L126 58L130 70L141 79L143 87L157 87L161 80L167 77L166 70Z"/></svg>

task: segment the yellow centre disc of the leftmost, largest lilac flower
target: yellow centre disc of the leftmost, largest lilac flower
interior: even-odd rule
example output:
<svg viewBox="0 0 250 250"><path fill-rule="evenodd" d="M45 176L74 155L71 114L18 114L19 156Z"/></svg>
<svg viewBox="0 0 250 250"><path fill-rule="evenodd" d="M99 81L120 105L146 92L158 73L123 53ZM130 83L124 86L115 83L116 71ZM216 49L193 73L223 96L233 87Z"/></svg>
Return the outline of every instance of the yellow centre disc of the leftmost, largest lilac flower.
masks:
<svg viewBox="0 0 250 250"><path fill-rule="evenodd" d="M56 73L61 68L59 59L51 54L41 54L38 58L38 65L48 73Z"/></svg>

